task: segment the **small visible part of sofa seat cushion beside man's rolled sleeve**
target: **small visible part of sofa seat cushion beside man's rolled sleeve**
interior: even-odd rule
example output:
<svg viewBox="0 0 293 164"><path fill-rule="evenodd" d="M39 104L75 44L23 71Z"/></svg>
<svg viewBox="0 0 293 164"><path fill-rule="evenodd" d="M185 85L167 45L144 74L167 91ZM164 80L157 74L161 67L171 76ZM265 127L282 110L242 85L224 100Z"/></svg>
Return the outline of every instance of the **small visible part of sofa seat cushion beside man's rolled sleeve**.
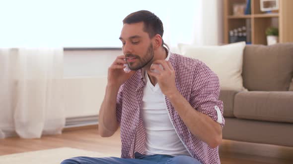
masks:
<svg viewBox="0 0 293 164"><path fill-rule="evenodd" d="M234 117L233 108L234 108L234 97L238 91L235 90L221 90L219 100L224 104L224 117Z"/></svg>

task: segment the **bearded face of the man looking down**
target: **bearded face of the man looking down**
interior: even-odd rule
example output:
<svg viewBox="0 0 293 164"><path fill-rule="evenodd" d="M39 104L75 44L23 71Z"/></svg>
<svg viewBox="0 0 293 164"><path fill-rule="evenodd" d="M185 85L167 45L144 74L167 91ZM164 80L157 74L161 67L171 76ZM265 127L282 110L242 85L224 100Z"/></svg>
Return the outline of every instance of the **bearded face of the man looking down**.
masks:
<svg viewBox="0 0 293 164"><path fill-rule="evenodd" d="M144 32L144 23L124 24L120 40L126 62L131 70L139 70L151 63L153 46L147 32Z"/></svg>

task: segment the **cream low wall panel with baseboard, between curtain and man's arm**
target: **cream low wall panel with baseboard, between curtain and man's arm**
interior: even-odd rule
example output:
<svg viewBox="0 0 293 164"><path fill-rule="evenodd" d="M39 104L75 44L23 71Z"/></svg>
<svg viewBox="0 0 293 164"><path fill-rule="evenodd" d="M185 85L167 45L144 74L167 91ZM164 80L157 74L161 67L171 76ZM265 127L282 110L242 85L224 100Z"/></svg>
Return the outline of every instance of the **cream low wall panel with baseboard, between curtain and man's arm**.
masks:
<svg viewBox="0 0 293 164"><path fill-rule="evenodd" d="M96 124L107 77L64 78L66 127Z"/></svg>

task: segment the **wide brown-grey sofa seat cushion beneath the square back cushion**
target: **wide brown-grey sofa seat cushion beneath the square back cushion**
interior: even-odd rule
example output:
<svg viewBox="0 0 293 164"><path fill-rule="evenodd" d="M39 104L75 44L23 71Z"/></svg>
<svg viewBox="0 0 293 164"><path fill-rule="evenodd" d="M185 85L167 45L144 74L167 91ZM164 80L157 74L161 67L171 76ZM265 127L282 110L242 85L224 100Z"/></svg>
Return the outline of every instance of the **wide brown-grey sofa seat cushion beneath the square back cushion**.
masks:
<svg viewBox="0 0 293 164"><path fill-rule="evenodd" d="M234 115L239 119L293 123L293 92L239 92L235 95Z"/></svg>

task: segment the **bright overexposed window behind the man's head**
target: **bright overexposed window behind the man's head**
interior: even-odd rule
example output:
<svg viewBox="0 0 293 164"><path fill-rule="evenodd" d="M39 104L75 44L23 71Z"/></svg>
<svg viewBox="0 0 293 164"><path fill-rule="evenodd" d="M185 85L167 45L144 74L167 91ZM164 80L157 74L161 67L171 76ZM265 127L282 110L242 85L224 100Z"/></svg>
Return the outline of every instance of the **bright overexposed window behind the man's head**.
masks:
<svg viewBox="0 0 293 164"><path fill-rule="evenodd" d="M162 20L165 42L189 43L194 38L193 1L2 0L0 46L121 47L122 20L142 9Z"/></svg>

